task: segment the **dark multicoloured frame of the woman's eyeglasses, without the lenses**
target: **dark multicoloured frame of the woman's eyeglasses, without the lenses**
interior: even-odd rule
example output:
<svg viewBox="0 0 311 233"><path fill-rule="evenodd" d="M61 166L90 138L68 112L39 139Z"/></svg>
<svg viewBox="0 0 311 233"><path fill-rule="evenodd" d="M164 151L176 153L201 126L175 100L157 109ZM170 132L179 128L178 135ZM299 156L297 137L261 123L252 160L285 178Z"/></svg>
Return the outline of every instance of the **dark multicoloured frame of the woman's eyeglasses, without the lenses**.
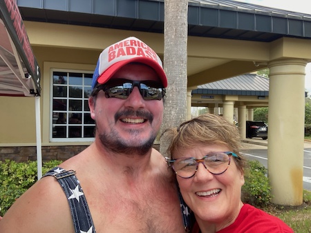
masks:
<svg viewBox="0 0 311 233"><path fill-rule="evenodd" d="M207 158L208 156L214 155L214 154L216 154L216 153L227 154L227 156L229 157L229 161L228 161L227 168L226 168L223 172L220 172L220 173L211 172L211 171L207 168L207 166L205 165L205 163L204 163L205 158ZM205 169L206 169L209 173L211 173L211 174L214 174L214 175L223 174L225 171L228 170L229 165L230 165L230 163L231 163L231 157L232 157L232 156L236 157L236 159L240 159L240 157L239 157L236 153L230 152L230 151L229 151L229 152L214 152L214 153L212 153L212 154L207 154L207 155L203 156L202 159L196 159L196 158L194 158L194 157L181 157L181 158L178 158L178 159L194 159L194 161L196 161L196 170L194 170L194 174L193 174L192 176L189 176L189 177L183 177L183 176L180 176L179 174L177 174L177 172L175 171L174 166L173 166L173 163L174 163L175 161L177 161L177 159L169 159L169 157L165 157L165 161L167 161L167 164L169 165L170 168L172 168L172 170L175 172L176 175L178 175L179 177L181 177L181 178L183 178L183 179L189 179L189 178L191 178L191 177L194 177L194 175L195 175L196 172L198 171L198 165L199 165L199 163L202 163L202 165L205 167Z"/></svg>

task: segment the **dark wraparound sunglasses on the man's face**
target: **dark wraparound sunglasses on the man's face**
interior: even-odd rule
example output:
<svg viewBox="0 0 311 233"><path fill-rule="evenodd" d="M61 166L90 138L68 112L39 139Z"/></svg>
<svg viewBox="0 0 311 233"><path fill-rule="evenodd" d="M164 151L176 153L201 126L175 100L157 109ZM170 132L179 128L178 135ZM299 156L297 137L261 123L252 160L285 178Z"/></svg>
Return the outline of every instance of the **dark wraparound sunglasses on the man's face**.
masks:
<svg viewBox="0 0 311 233"><path fill-rule="evenodd" d="M161 100L165 96L165 88L157 81L134 81L129 79L111 79L107 83L98 85L92 95L95 96L100 90L103 90L106 98L127 99L133 92L134 87L138 87L142 99L147 101Z"/></svg>

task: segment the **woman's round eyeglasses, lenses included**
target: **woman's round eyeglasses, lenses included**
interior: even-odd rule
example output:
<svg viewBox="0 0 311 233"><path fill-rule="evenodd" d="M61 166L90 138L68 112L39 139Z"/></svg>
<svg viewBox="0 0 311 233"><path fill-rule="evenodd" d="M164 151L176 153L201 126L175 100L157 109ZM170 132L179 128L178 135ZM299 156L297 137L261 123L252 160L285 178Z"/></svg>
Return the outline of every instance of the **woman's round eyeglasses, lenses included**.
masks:
<svg viewBox="0 0 311 233"><path fill-rule="evenodd" d="M202 163L211 174L223 174L230 165L231 156L238 158L234 152L216 152L207 154L202 159L182 157L171 160L166 157L165 160L178 176L191 178L196 174L199 163Z"/></svg>

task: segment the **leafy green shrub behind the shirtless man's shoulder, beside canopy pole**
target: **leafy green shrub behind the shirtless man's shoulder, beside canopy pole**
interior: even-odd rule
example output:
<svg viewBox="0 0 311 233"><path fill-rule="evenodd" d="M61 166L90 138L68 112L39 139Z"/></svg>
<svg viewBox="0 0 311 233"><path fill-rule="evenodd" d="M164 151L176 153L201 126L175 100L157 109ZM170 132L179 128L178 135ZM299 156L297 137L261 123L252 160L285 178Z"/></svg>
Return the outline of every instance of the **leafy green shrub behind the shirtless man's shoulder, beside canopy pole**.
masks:
<svg viewBox="0 0 311 233"><path fill-rule="evenodd" d="M42 165L42 173L62 163L48 161ZM37 181L37 161L17 163L15 161L0 161L0 215L8 210L16 199Z"/></svg>

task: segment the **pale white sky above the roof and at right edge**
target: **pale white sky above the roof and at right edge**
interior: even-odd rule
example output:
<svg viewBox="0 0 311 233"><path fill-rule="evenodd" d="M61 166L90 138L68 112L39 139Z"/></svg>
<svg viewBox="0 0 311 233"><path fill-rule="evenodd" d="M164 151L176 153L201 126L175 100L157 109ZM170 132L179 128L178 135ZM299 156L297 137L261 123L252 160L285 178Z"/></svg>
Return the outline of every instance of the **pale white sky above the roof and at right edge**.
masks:
<svg viewBox="0 0 311 233"><path fill-rule="evenodd" d="M282 10L290 10L311 14L310 0L235 0L245 3L252 3L270 8L278 8ZM311 93L311 63L305 68L305 89Z"/></svg>

